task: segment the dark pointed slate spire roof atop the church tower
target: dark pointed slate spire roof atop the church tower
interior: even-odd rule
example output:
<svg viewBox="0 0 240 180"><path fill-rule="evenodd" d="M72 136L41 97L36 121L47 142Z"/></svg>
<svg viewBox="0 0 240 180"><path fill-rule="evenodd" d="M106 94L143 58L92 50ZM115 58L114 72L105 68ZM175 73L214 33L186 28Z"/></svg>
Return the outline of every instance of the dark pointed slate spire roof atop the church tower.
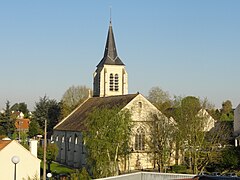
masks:
<svg viewBox="0 0 240 180"><path fill-rule="evenodd" d="M100 63L97 65L103 66L104 64L106 65L124 65L121 59L117 55L117 48L114 40L114 35L113 35L113 29L112 29L112 23L110 21L109 29L108 29L108 36L107 36L107 41L106 41L106 46L105 46L105 51L104 51L104 56Z"/></svg>

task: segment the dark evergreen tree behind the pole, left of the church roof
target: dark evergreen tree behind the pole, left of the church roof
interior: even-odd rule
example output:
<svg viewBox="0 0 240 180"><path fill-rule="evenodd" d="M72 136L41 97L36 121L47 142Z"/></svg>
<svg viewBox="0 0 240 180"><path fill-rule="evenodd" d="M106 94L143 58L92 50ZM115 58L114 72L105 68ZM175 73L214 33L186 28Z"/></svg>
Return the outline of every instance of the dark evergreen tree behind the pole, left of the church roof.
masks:
<svg viewBox="0 0 240 180"><path fill-rule="evenodd" d="M45 126L47 120L47 131L51 132L53 127L58 123L61 115L61 108L55 99L49 99L47 96L40 97L39 102L35 104L35 111L33 112L33 120L35 120L41 130Z"/></svg>

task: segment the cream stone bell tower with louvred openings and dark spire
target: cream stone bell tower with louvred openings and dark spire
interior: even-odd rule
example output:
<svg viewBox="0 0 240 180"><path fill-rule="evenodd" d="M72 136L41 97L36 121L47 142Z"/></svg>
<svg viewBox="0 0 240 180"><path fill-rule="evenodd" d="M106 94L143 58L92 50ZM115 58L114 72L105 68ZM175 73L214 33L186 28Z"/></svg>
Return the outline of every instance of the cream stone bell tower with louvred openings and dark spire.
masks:
<svg viewBox="0 0 240 180"><path fill-rule="evenodd" d="M117 55L110 20L104 56L93 74L93 96L107 97L128 94L128 75Z"/></svg>

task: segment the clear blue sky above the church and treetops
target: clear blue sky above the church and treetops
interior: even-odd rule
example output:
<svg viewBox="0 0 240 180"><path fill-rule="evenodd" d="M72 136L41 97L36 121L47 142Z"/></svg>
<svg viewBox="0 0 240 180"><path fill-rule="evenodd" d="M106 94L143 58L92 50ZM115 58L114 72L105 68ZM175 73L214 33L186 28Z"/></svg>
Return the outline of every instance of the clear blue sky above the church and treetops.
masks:
<svg viewBox="0 0 240 180"><path fill-rule="evenodd" d="M0 1L0 109L92 87L110 7L129 93L240 103L239 0L11 0Z"/></svg>

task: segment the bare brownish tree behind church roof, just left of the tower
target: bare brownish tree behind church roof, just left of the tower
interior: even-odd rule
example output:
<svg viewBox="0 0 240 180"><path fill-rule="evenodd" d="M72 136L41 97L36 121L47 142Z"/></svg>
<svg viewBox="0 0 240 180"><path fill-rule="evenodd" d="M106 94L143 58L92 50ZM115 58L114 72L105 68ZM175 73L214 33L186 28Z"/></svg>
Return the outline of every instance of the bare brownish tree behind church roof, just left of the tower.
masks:
<svg viewBox="0 0 240 180"><path fill-rule="evenodd" d="M62 97L62 115L66 117L70 114L80 103L86 100L91 94L90 88L86 86L71 86L63 94Z"/></svg>

